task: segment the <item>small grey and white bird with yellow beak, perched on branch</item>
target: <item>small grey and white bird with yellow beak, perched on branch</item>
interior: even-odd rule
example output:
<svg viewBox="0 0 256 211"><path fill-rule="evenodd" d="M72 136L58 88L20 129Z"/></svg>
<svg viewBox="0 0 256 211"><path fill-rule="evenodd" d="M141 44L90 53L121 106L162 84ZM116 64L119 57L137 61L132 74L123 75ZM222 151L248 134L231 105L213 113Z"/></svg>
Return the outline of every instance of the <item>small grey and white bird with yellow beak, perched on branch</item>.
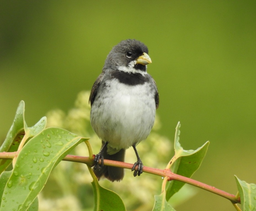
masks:
<svg viewBox="0 0 256 211"><path fill-rule="evenodd" d="M122 180L124 170L104 166L104 159L124 162L125 150L131 146L137 157L133 175L143 172L136 145L149 135L159 105L156 83L147 73L149 63L147 46L138 40L122 40L107 55L102 73L93 84L90 120L102 140L93 168L98 179Z"/></svg>

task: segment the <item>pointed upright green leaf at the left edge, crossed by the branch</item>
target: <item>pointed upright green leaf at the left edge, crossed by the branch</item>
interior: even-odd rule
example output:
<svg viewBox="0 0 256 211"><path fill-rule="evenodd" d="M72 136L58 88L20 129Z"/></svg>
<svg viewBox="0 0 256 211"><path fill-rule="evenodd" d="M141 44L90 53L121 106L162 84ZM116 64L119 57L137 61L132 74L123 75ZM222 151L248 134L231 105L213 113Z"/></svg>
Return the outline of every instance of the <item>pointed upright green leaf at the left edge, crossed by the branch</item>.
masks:
<svg viewBox="0 0 256 211"><path fill-rule="evenodd" d="M17 151L20 141L25 135L24 131L24 101L18 105L14 121L10 127L4 143L0 147L0 152ZM0 173L3 172L12 162L11 159L0 159Z"/></svg>

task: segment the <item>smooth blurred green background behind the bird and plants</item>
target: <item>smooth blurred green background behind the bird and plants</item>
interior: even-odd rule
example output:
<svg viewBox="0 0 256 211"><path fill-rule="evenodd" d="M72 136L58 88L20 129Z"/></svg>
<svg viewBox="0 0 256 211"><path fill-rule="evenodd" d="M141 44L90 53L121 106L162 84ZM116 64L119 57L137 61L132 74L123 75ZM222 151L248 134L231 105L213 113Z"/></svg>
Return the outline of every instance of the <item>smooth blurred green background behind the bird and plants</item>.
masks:
<svg viewBox="0 0 256 211"><path fill-rule="evenodd" d="M21 100L29 126L67 111L111 48L136 38L152 59L161 134L173 140L180 121L185 149L209 140L192 178L236 194L234 174L256 183L255 11L256 1L1 1L0 137ZM176 209L234 210L203 190Z"/></svg>

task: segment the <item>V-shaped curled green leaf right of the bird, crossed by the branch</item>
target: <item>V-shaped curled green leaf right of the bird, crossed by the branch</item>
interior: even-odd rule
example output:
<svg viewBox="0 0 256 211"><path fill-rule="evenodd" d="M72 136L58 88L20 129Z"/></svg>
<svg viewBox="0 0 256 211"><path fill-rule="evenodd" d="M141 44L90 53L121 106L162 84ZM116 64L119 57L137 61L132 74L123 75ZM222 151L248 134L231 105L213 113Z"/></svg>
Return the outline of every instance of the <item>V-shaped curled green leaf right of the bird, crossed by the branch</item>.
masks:
<svg viewBox="0 0 256 211"><path fill-rule="evenodd" d="M173 164L173 173L185 177L191 177L193 173L195 173L195 171L200 167L209 146L209 141L207 141L203 146L196 150L184 150L179 143L179 129L180 123L177 124L174 139L175 162ZM180 190L180 188L182 188L184 184L184 182L176 180L170 181L166 189L166 200L168 201L171 196L173 196Z"/></svg>

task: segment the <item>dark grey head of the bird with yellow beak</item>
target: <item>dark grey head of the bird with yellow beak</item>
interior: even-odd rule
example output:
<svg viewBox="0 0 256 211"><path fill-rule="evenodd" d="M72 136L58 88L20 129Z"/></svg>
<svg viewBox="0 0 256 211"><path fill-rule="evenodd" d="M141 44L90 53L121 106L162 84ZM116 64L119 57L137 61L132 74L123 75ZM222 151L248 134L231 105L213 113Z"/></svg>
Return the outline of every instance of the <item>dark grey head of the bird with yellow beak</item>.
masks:
<svg viewBox="0 0 256 211"><path fill-rule="evenodd" d="M145 72L151 63L147 46L138 40L122 40L112 48L103 69L112 68L125 72Z"/></svg>

